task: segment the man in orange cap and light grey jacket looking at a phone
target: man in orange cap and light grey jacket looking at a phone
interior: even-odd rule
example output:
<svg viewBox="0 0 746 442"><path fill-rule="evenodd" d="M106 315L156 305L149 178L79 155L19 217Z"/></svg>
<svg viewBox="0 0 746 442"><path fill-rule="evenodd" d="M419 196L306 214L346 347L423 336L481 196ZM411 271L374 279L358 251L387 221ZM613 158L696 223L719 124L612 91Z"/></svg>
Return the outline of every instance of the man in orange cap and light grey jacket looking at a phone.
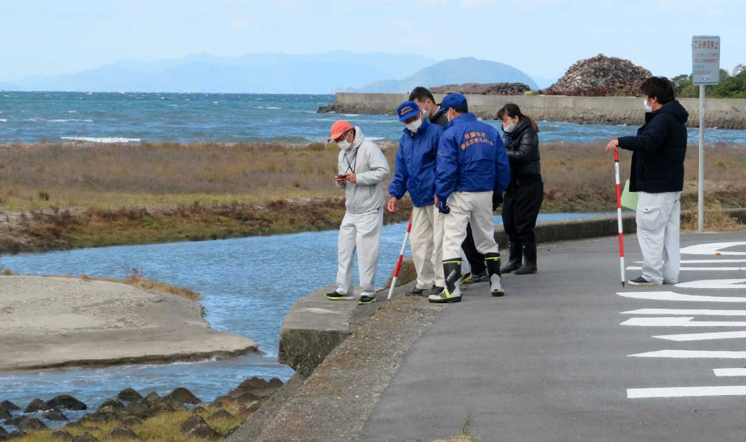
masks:
<svg viewBox="0 0 746 442"><path fill-rule="evenodd" d="M383 228L383 189L380 182L389 177L389 162L380 148L363 135L360 127L344 120L332 124L329 141L339 146L337 186L345 187L345 218L339 226L336 290L330 300L349 299L354 294L354 253L363 288L359 304L375 300L375 274Z"/></svg>

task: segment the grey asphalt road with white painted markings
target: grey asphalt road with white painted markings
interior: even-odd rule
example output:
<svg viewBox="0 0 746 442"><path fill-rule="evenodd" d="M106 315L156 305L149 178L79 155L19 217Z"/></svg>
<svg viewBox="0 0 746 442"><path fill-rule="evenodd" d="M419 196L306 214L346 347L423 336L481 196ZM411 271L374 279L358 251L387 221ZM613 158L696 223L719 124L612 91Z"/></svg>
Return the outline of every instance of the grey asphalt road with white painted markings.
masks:
<svg viewBox="0 0 746 442"><path fill-rule="evenodd" d="M746 373L713 370L746 367L746 336L653 337L746 334L746 284L697 287L746 281L746 230L685 234L681 247L734 241L742 244L719 255L700 247L705 254L682 256L718 261L684 268L721 268L683 270L680 283L695 287L621 288L614 238L541 247L540 273L505 277L506 297L474 285L441 312L407 353L361 440L431 442L467 428L483 442L745 441ZM639 266L636 237L626 245L627 265ZM639 309L665 310L630 313ZM716 323L698 326L705 321ZM671 340L682 338L700 339Z"/></svg>

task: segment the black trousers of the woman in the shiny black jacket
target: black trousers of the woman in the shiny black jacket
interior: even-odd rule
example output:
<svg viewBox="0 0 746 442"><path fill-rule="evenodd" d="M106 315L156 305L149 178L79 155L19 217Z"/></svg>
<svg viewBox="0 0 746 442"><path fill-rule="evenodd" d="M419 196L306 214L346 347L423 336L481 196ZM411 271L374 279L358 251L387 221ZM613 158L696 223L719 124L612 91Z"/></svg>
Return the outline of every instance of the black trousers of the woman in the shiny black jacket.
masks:
<svg viewBox="0 0 746 442"><path fill-rule="evenodd" d="M503 202L503 226L510 242L536 242L536 217L544 201L544 183L510 183Z"/></svg>

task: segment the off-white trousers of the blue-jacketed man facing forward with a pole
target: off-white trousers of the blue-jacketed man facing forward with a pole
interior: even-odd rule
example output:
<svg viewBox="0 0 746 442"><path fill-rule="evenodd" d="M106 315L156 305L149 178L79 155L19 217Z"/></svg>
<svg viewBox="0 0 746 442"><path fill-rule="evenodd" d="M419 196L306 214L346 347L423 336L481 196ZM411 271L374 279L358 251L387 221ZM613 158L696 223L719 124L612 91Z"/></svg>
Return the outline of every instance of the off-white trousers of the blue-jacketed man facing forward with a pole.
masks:
<svg viewBox="0 0 746 442"><path fill-rule="evenodd" d="M435 204L412 210L412 261L417 270L417 288L442 287L443 228L445 216Z"/></svg>

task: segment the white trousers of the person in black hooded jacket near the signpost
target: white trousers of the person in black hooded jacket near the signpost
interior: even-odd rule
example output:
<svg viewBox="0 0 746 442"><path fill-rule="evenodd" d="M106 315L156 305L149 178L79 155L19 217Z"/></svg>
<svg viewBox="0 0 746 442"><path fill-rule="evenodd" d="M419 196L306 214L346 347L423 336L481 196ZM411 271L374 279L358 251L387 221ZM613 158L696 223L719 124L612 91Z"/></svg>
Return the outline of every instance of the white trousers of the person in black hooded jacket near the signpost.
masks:
<svg viewBox="0 0 746 442"><path fill-rule="evenodd" d="M679 282L681 192L639 192L637 240L642 250L642 277L657 285Z"/></svg>

